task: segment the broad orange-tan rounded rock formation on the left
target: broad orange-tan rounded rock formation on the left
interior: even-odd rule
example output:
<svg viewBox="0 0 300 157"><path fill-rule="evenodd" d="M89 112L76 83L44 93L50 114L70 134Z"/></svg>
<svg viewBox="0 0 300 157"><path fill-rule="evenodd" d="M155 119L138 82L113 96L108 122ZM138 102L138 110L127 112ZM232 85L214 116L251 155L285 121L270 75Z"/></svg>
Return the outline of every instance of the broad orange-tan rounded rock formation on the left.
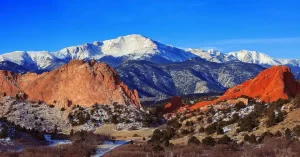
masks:
<svg viewBox="0 0 300 157"><path fill-rule="evenodd" d="M73 104L125 104L141 107L137 91L120 81L114 69L104 63L73 60L48 73L16 75L0 72L0 92L15 96L24 92L29 100L69 107Z"/></svg>

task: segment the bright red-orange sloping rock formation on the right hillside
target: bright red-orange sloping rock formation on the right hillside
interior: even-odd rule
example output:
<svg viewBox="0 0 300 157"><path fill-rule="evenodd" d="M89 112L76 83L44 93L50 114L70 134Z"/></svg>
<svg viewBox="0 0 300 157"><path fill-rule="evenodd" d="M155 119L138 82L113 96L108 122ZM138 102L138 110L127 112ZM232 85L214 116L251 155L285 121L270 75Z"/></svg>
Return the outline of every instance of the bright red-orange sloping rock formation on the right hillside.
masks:
<svg viewBox="0 0 300 157"><path fill-rule="evenodd" d="M227 92L214 101L205 101L195 104L191 109L197 109L220 101L235 99L242 95L259 99L265 102L274 102L278 99L288 99L300 93L300 84L295 81L294 75L288 66L274 66L261 72L257 77L241 85L228 89Z"/></svg>

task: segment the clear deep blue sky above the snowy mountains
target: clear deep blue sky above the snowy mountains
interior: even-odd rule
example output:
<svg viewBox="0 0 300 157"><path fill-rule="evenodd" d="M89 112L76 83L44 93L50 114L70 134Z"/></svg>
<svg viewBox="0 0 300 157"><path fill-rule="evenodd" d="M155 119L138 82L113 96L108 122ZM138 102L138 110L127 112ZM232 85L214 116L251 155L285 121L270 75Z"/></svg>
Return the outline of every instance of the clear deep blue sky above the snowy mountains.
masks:
<svg viewBox="0 0 300 157"><path fill-rule="evenodd" d="M0 53L142 34L187 48L300 58L299 0L0 0Z"/></svg>

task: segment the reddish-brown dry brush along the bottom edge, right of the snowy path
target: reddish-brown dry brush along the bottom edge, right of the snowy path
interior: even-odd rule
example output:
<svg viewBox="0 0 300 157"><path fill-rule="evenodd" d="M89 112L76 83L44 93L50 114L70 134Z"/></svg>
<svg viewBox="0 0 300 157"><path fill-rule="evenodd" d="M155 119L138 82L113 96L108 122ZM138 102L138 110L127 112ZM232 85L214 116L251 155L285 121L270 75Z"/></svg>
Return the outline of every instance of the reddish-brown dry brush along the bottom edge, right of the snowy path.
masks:
<svg viewBox="0 0 300 157"><path fill-rule="evenodd" d="M300 142L285 138L268 138L262 145L216 145L214 147L175 145L156 152L150 144L121 146L105 157L298 157Z"/></svg>

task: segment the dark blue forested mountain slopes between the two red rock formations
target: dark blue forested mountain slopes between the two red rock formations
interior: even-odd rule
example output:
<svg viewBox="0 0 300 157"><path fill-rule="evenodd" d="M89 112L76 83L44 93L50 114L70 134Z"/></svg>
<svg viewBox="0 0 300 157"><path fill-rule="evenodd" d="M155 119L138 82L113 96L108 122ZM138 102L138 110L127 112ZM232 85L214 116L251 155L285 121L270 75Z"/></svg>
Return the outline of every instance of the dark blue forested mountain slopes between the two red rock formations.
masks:
<svg viewBox="0 0 300 157"><path fill-rule="evenodd" d="M181 63L129 61L117 67L121 80L145 99L195 93L221 93L254 78L264 68L242 62L213 63L194 58Z"/></svg>

